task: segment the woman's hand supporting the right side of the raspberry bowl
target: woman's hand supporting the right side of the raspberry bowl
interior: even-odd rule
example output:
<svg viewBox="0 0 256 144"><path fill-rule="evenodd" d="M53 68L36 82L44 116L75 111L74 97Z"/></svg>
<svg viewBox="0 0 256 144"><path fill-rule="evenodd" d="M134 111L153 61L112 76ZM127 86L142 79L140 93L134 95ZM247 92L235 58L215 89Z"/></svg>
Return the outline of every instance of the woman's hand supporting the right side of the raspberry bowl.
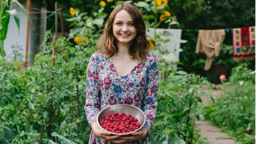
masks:
<svg viewBox="0 0 256 144"><path fill-rule="evenodd" d="M118 140L126 140L127 142L132 142L134 140L139 140L144 138L148 134L146 128L141 128L139 131L132 133L132 136L122 136Z"/></svg>

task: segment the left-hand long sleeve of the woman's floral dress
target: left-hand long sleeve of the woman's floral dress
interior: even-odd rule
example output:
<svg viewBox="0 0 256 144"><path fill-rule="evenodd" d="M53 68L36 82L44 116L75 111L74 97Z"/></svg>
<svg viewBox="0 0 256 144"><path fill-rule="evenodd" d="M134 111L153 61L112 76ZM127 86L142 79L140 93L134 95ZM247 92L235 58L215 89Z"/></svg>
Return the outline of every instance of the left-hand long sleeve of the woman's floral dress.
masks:
<svg viewBox="0 0 256 144"><path fill-rule="evenodd" d="M100 112L100 86L97 68L98 55L92 54L86 73L86 104L84 110L89 125L97 120Z"/></svg>

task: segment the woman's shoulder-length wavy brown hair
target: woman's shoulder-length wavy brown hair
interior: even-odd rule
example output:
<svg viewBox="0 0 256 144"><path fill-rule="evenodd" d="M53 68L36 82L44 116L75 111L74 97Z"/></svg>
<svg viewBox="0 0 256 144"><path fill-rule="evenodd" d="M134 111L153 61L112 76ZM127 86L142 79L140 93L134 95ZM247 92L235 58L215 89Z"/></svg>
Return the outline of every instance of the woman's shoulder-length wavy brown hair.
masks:
<svg viewBox="0 0 256 144"><path fill-rule="evenodd" d="M132 40L132 43L129 47L129 54L132 56L132 59L140 60L145 62L146 55L150 51L150 44L146 38L146 25L142 18L142 13L138 8L130 3L122 3L116 6L116 8L110 14L104 32L100 37L96 47L98 50L103 49L103 55L106 58L116 56L118 52L117 40L113 34L113 23L115 16L121 10L126 10L132 17L133 24L137 30L135 38Z"/></svg>

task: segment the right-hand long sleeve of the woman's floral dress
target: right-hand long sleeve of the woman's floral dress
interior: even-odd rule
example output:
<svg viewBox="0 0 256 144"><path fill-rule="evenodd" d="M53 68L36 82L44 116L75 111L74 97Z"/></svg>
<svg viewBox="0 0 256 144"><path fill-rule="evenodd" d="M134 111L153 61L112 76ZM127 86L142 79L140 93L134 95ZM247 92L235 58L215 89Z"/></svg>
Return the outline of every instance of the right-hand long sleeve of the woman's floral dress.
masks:
<svg viewBox="0 0 256 144"><path fill-rule="evenodd" d="M146 123L143 127L149 133L154 124L157 110L158 60L154 54L152 54L147 75L142 111L146 114Z"/></svg>

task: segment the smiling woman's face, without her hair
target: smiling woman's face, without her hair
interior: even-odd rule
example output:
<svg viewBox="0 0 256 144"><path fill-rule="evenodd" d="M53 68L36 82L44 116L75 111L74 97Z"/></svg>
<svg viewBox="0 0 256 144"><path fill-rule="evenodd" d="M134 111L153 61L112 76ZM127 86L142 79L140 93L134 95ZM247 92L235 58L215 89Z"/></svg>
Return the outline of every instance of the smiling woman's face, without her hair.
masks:
<svg viewBox="0 0 256 144"><path fill-rule="evenodd" d="M118 43L129 44L135 38L137 30L133 25L133 20L126 10L121 10L116 14L113 23L113 34Z"/></svg>

